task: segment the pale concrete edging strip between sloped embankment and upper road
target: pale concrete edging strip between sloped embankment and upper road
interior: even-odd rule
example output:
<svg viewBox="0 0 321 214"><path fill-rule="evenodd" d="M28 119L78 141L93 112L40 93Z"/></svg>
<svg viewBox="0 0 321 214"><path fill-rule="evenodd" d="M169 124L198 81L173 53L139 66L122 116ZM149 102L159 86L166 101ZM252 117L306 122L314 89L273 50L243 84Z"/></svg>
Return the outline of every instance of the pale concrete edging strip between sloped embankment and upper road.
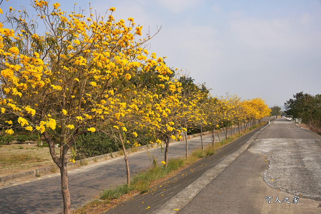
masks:
<svg viewBox="0 0 321 214"><path fill-rule="evenodd" d="M193 198L201 192L208 184L210 184L226 167L228 167L236 158L238 158L247 148L255 141L256 137L264 130L269 124L263 127L260 131L256 132L248 141L236 150L224 158L220 163L215 165L213 168L207 170L203 175L196 179L192 184L188 185L184 190L179 192L173 198L162 205L160 208L155 210L153 214L176 214L184 208L187 203L193 200ZM255 131L255 130L253 130Z"/></svg>

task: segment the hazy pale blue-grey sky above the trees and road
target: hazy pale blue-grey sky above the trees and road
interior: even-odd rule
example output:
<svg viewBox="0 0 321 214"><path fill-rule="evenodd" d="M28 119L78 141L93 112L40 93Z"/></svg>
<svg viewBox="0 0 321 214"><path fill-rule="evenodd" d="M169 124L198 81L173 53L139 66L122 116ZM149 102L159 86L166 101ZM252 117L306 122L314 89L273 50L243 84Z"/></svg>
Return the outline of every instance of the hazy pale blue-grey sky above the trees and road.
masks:
<svg viewBox="0 0 321 214"><path fill-rule="evenodd" d="M88 0L49 4L55 2L89 13ZM0 7L21 4L34 13L28 0ZM169 67L189 71L195 83L206 82L213 96L261 97L272 107L300 91L321 93L320 0L91 0L91 7L101 15L115 7L115 19L134 18L143 35L162 26L149 52L167 56Z"/></svg>

